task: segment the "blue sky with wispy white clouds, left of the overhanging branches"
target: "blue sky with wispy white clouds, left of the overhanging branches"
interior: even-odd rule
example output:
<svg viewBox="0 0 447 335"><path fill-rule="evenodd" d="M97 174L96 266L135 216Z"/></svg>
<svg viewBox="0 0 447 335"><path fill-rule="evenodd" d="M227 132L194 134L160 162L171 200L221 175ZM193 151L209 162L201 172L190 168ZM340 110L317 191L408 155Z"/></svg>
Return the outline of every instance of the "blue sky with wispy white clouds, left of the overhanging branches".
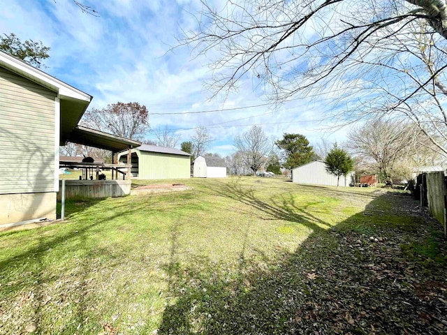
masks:
<svg viewBox="0 0 447 335"><path fill-rule="evenodd" d="M153 129L175 130L177 147L205 126L213 139L208 151L221 156L234 152L234 137L255 124L273 140L283 133L305 135L314 146L322 137L345 139L347 129L333 127L328 105L299 98L274 107L248 77L237 92L211 98L209 60L191 56L189 47L172 48L182 31L196 28L200 1L81 2L99 16L82 13L73 0L8 0L0 33L50 47L43 70L94 96L89 107L143 104Z"/></svg>

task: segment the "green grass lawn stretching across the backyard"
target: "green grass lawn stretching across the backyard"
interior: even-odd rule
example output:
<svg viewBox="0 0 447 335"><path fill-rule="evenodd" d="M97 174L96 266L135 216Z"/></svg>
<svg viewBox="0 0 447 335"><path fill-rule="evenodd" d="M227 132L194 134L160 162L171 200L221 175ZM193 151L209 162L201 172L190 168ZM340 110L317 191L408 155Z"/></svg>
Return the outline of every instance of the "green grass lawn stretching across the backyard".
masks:
<svg viewBox="0 0 447 335"><path fill-rule="evenodd" d="M278 271L310 241L328 239L312 262L326 259L336 225L374 232L373 202L399 217L373 188L182 182L193 189L68 202L64 223L1 233L0 334L284 334Z"/></svg>

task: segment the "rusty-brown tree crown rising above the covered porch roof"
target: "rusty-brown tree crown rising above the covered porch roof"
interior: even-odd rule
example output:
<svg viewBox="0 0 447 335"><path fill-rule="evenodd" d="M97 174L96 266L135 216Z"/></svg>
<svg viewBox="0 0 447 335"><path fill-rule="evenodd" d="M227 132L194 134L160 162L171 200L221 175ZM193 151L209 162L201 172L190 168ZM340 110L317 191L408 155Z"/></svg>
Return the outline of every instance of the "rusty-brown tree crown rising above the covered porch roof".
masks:
<svg viewBox="0 0 447 335"><path fill-rule="evenodd" d="M112 103L85 112L82 126L131 140L142 140L149 131L149 112L139 103Z"/></svg>

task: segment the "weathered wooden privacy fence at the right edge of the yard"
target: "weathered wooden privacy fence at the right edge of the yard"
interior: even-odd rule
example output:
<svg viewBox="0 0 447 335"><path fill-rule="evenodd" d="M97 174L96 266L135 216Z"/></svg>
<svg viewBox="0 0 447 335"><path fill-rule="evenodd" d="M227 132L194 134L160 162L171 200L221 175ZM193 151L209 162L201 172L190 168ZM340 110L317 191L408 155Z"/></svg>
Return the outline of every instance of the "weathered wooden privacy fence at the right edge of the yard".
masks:
<svg viewBox="0 0 447 335"><path fill-rule="evenodd" d="M444 237L447 237L447 184L444 172L430 172L425 174L425 184L428 209L432 216L442 223L444 226Z"/></svg>

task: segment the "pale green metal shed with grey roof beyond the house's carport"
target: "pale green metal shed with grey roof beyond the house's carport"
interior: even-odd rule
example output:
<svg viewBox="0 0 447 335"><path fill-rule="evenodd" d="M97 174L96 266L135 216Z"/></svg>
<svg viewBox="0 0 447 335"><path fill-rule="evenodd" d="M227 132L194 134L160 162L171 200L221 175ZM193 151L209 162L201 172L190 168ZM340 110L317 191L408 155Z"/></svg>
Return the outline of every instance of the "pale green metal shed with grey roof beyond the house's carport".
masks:
<svg viewBox="0 0 447 335"><path fill-rule="evenodd" d="M191 155L179 149L142 144L132 149L131 176L138 179L184 179L191 177ZM127 163L127 151L118 161Z"/></svg>

